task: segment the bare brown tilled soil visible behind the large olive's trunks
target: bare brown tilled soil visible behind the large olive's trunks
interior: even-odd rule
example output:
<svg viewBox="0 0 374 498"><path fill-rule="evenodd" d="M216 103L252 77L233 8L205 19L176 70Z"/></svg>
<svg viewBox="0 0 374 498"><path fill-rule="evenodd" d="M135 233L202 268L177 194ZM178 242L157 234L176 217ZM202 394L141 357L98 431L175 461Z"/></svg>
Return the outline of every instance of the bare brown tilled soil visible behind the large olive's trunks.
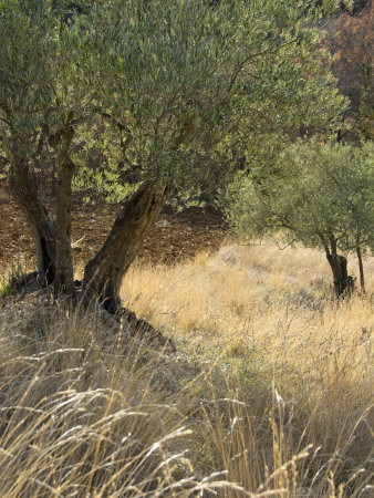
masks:
<svg viewBox="0 0 374 498"><path fill-rule="evenodd" d="M74 263L82 268L105 240L117 206L73 205L72 241ZM229 231L222 216L212 208L190 207L177 214L163 214L144 241L138 258L149 262L174 263L191 259L201 250L216 251ZM34 246L28 224L11 199L0 199L0 273L12 261L35 266Z"/></svg>

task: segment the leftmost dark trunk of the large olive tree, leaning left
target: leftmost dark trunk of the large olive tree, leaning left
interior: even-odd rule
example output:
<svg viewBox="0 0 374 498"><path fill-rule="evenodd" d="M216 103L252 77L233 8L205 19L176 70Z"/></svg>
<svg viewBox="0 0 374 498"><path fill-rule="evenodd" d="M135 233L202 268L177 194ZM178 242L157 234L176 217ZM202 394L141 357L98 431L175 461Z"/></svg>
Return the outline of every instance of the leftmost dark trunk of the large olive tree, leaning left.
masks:
<svg viewBox="0 0 374 498"><path fill-rule="evenodd" d="M9 186L32 231L37 246L39 280L51 283L55 276L55 222L38 195L27 159L15 158L11 164Z"/></svg>

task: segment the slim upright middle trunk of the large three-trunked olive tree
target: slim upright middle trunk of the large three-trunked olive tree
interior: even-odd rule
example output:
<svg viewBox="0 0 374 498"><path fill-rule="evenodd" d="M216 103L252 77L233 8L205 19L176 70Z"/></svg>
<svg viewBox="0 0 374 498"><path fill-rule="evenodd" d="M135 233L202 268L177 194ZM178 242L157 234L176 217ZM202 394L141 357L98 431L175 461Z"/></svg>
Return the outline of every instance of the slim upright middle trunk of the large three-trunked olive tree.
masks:
<svg viewBox="0 0 374 498"><path fill-rule="evenodd" d="M71 245L71 195L75 165L69 156L73 129L67 126L61 135L59 163L59 189L56 199L56 269L54 289L56 292L74 291L73 252Z"/></svg>

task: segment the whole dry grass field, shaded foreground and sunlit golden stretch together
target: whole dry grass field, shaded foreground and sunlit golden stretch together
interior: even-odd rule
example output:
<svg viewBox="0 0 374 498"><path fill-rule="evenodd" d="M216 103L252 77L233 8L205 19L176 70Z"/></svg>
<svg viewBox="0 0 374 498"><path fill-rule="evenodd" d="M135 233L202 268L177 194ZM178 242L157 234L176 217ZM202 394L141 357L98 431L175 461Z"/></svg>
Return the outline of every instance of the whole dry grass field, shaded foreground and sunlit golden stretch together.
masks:
<svg viewBox="0 0 374 498"><path fill-rule="evenodd" d="M366 294L336 302L309 249L135 263L124 303L174 355L42 293L7 301L0 496L372 496L374 258L365 269Z"/></svg>

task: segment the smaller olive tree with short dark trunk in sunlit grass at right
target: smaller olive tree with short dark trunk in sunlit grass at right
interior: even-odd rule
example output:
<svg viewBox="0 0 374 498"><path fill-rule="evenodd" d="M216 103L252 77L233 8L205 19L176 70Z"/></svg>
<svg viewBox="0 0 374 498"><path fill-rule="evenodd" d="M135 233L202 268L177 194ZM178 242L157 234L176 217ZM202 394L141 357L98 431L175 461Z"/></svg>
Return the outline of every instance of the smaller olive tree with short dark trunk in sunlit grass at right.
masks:
<svg viewBox="0 0 374 498"><path fill-rule="evenodd" d="M253 168L230 185L232 226L252 238L280 237L324 249L337 297L353 283L337 251L355 251L364 289L362 252L374 248L373 144L300 142L270 157L272 175Z"/></svg>

